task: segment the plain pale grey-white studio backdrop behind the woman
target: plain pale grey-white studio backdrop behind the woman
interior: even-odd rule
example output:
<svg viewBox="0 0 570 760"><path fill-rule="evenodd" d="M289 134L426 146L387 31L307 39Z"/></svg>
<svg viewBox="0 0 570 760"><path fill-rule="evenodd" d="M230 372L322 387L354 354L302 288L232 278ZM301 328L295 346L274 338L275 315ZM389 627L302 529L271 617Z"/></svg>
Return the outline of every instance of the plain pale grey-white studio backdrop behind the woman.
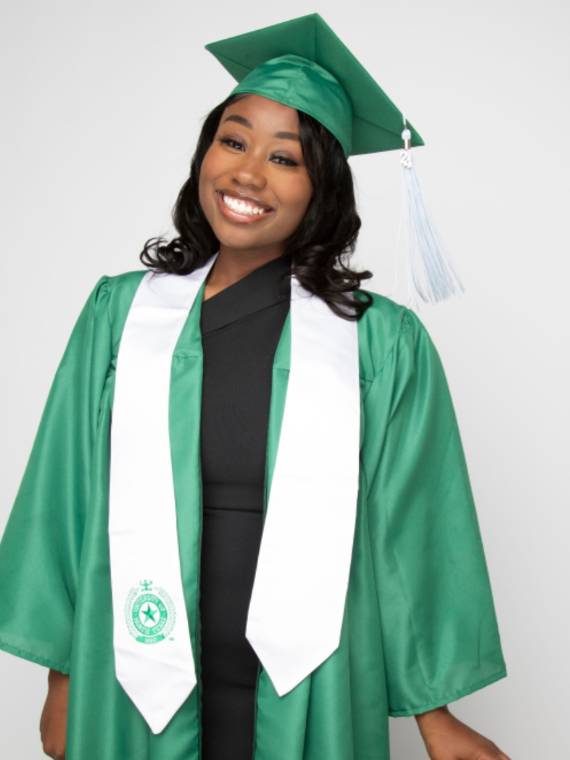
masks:
<svg viewBox="0 0 570 760"><path fill-rule="evenodd" d="M568 4L3 6L0 530L81 306L170 234L201 121L233 87L203 45L318 11L424 138L416 168L466 287L418 313L456 405L509 675L450 709L513 760L569 756ZM390 295L398 153L350 163L354 265ZM0 678L0 755L39 760L47 670L0 652ZM413 718L391 726L394 760L426 757Z"/></svg>

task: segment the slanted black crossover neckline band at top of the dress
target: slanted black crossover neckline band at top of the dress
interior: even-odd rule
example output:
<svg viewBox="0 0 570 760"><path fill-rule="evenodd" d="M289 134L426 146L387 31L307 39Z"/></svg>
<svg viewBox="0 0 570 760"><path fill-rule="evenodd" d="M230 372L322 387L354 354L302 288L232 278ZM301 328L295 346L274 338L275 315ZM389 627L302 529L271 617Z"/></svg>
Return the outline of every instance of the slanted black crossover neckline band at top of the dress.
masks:
<svg viewBox="0 0 570 760"><path fill-rule="evenodd" d="M289 301L291 261L290 253L278 256L219 293L202 300L202 332L217 330L268 306Z"/></svg>

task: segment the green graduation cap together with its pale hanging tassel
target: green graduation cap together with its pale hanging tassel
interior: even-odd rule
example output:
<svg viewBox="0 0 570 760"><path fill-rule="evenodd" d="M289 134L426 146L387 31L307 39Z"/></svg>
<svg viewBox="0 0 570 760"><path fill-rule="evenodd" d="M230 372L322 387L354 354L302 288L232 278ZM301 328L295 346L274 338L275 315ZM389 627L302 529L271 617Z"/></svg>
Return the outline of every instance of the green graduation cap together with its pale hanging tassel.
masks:
<svg viewBox="0 0 570 760"><path fill-rule="evenodd" d="M442 252L412 162L410 148L424 145L423 139L318 13L205 47L237 80L230 94L261 95L312 116L338 140L346 158L400 149L408 298L436 302L463 290Z"/></svg>

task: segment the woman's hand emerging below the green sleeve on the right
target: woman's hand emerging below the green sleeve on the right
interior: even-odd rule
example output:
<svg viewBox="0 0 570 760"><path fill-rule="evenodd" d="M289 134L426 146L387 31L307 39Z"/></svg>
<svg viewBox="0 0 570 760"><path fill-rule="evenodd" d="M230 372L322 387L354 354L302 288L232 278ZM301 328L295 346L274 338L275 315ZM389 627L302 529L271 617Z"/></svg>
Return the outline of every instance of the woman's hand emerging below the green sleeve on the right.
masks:
<svg viewBox="0 0 570 760"><path fill-rule="evenodd" d="M447 706L414 717L431 760L511 760L490 739L452 715Z"/></svg>

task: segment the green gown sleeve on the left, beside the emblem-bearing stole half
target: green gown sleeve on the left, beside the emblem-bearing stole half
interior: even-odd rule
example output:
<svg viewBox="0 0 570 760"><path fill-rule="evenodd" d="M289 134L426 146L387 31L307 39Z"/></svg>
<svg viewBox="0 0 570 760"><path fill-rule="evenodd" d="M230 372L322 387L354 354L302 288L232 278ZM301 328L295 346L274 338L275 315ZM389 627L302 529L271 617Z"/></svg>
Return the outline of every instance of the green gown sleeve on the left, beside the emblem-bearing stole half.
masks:
<svg viewBox="0 0 570 760"><path fill-rule="evenodd" d="M72 330L0 542L0 649L62 673L111 350L108 281L97 282Z"/></svg>

